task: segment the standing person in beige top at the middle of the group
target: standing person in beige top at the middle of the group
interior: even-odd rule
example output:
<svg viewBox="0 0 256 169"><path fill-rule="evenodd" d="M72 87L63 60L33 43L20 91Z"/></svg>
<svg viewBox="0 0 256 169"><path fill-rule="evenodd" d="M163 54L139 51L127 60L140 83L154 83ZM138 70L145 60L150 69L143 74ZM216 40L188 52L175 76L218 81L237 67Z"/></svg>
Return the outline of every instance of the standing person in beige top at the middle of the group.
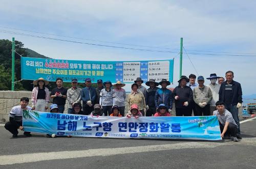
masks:
<svg viewBox="0 0 256 169"><path fill-rule="evenodd" d="M145 116L146 112L146 102L143 94L138 91L138 85L137 83L133 83L132 85L132 91L128 95L127 102L129 105L129 109L131 109L131 106L133 104L136 104L138 106L139 111L143 116Z"/></svg>

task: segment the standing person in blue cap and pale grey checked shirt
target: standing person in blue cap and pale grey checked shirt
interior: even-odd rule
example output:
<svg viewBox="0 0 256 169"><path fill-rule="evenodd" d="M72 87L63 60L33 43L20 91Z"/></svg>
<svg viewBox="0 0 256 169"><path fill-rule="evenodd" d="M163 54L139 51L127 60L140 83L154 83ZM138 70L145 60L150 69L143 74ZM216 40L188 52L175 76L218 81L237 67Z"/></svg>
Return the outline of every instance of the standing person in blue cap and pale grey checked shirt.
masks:
<svg viewBox="0 0 256 169"><path fill-rule="evenodd" d="M73 114L74 104L80 103L81 101L81 89L77 88L77 79L71 80L72 87L68 89L67 100L68 100L68 114Z"/></svg>

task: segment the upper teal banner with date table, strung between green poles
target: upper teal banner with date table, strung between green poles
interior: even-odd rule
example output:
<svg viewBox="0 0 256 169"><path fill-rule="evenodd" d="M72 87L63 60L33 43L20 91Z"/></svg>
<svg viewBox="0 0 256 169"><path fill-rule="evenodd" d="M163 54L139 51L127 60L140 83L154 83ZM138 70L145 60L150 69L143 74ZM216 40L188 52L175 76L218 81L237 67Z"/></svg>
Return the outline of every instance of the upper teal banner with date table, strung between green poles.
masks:
<svg viewBox="0 0 256 169"><path fill-rule="evenodd" d="M40 77L48 81L62 78L70 82L76 78L84 82L87 77L92 82L97 79L112 82L131 83L137 77L148 81L163 78L173 82L174 60L161 61L74 61L21 57L22 79L35 80Z"/></svg>

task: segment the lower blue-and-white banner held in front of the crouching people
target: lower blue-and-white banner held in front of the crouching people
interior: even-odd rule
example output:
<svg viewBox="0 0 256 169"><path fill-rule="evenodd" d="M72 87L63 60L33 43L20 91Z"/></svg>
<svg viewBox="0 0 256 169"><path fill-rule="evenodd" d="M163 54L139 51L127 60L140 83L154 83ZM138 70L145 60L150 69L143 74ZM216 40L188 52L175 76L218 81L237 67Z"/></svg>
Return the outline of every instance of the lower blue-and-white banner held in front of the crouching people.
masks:
<svg viewBox="0 0 256 169"><path fill-rule="evenodd" d="M91 117L23 111L25 131L103 138L168 138L220 140L216 116L201 117Z"/></svg>

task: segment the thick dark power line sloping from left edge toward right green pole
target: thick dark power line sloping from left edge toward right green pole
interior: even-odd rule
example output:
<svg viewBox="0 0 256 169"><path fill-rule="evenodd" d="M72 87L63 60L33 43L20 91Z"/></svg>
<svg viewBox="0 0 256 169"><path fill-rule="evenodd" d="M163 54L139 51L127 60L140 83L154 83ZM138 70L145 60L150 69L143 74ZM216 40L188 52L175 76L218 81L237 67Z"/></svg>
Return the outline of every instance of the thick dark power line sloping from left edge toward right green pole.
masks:
<svg viewBox="0 0 256 169"><path fill-rule="evenodd" d="M79 44L102 46L102 47L113 47L113 48L121 48L121 49L131 49L131 50L151 51L151 52L163 52L163 53L177 53L177 52L174 52L174 51L167 51L167 50L166 51L165 50L152 50L152 49L130 48L130 47L122 47L122 46L101 45L101 44L96 44L96 43L77 42L77 41L50 38L50 37L43 37L43 36L30 35L30 34L23 34L23 33L5 31L5 30L0 30L0 32L7 33L7 34L14 34L14 35L22 35L22 36L28 36L28 37L41 38L41 39L50 39L50 40L57 40L57 41L63 41L63 42L72 42L72 43L79 43Z"/></svg>

